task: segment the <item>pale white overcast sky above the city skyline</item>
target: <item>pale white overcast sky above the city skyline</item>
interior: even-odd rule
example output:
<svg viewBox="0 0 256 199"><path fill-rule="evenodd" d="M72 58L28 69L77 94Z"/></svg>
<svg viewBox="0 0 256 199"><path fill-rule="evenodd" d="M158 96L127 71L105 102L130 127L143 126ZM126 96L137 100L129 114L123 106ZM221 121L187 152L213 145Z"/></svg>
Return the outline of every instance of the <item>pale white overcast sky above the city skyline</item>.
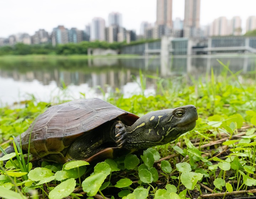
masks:
<svg viewBox="0 0 256 199"><path fill-rule="evenodd" d="M173 0L172 19L184 18L184 0ZM10 34L34 34L38 29L52 32L54 27L84 29L94 17L102 17L108 25L108 14L120 12L123 26L139 34L140 23L156 21L156 0L1 0L0 37ZM242 28L246 18L256 16L256 0L201 0L200 24L215 18L240 16Z"/></svg>

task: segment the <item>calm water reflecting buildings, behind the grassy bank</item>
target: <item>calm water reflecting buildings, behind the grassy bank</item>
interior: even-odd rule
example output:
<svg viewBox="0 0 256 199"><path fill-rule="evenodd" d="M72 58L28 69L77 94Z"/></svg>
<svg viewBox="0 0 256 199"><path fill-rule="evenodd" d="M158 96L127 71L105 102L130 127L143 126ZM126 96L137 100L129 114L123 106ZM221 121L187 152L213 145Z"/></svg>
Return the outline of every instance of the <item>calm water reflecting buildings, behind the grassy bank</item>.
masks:
<svg viewBox="0 0 256 199"><path fill-rule="evenodd" d="M255 71L256 55L159 56L136 58L95 58L82 60L0 61L1 105L30 99L39 101L100 97L121 92L124 97L141 92L139 70L144 75L172 78L192 75L195 79L220 74L229 64L233 72ZM155 93L155 80L147 79L146 94ZM0 105L0 106L1 106Z"/></svg>

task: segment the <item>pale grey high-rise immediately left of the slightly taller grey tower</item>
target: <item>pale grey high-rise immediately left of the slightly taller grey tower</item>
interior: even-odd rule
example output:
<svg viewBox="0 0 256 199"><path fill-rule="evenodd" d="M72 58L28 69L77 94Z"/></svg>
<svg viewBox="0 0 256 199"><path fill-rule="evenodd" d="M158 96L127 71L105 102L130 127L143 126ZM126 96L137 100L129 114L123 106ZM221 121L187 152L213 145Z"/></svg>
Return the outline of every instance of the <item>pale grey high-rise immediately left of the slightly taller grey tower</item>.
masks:
<svg viewBox="0 0 256 199"><path fill-rule="evenodd" d="M101 17L92 19L90 41L95 40L105 40L105 20Z"/></svg>

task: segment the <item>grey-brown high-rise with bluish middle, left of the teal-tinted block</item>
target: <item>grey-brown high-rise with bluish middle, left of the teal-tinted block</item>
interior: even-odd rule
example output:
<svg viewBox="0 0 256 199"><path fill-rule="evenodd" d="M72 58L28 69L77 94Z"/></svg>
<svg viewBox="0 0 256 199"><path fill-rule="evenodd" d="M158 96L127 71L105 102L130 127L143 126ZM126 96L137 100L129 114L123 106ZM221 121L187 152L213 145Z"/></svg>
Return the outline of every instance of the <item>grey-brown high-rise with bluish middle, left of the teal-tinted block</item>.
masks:
<svg viewBox="0 0 256 199"><path fill-rule="evenodd" d="M69 42L68 29L64 26L58 26L53 28L52 32L52 44L53 46L57 44L65 44Z"/></svg>

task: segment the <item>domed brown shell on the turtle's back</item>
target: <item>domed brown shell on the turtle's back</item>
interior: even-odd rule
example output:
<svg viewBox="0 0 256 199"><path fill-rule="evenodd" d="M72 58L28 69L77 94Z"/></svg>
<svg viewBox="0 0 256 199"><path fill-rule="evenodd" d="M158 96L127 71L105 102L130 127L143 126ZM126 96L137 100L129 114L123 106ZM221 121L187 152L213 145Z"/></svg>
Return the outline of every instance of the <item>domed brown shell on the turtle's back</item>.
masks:
<svg viewBox="0 0 256 199"><path fill-rule="evenodd" d="M139 117L98 98L55 105L39 115L21 134L22 149L38 157L59 153L77 137L118 117L132 125ZM101 132L98 132L101 133Z"/></svg>

